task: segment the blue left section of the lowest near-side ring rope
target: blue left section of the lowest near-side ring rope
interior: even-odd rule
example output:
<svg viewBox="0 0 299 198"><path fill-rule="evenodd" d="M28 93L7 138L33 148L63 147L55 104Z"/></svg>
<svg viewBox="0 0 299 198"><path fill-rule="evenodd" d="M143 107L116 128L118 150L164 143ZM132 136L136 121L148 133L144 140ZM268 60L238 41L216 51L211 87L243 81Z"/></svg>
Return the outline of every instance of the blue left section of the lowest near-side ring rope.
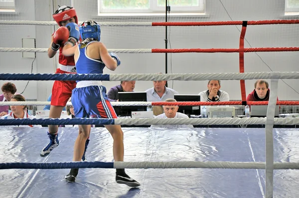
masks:
<svg viewBox="0 0 299 198"><path fill-rule="evenodd" d="M0 163L0 169L72 169L72 168L113 169L114 163L113 162Z"/></svg>

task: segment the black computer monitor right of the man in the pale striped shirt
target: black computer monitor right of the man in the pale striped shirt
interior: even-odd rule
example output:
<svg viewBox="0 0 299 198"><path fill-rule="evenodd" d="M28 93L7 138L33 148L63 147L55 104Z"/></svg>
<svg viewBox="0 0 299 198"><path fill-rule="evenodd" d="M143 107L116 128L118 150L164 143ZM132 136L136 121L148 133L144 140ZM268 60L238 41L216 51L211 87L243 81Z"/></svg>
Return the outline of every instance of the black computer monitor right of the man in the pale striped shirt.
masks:
<svg viewBox="0 0 299 198"><path fill-rule="evenodd" d="M199 102L200 95L182 95L175 94L174 99L176 101L192 101ZM190 115L200 115L200 106L179 106L178 111L180 113L184 113L190 117Z"/></svg>

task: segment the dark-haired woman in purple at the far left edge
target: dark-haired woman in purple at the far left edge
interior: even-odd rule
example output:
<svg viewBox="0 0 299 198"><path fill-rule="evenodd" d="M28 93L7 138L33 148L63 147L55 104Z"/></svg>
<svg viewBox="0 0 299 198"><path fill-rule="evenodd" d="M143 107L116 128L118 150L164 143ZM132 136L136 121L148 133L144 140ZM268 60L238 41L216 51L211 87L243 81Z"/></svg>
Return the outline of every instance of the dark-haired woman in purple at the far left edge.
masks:
<svg viewBox="0 0 299 198"><path fill-rule="evenodd" d="M10 101L11 97L15 94L16 88L13 83L4 83L1 87L2 94L0 95L0 101ZM0 116L8 114L9 106L0 106Z"/></svg>

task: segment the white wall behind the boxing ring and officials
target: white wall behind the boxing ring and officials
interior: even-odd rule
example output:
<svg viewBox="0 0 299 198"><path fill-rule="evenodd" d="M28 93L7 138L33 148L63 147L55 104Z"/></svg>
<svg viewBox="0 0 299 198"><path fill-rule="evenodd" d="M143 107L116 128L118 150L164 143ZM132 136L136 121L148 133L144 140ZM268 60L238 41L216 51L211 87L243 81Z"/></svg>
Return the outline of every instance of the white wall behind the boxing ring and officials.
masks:
<svg viewBox="0 0 299 198"><path fill-rule="evenodd" d="M15 0L19 15L0 14L1 20L53 20L52 0ZM97 17L96 0L73 0L79 21L164 21L162 17ZM284 17L283 0L222 0L232 20L291 19ZM70 5L71 0L54 0L57 5ZM22 5L26 5L25 8ZM229 21L228 13L219 0L207 0L205 17L171 17L170 21ZM171 48L239 48L241 26L170 27ZM102 39L107 48L164 48L165 27L107 27L102 26ZM245 38L252 47L298 46L299 25L256 25L248 26ZM37 48L47 48L53 26L5 25L0 29L3 38L0 47L21 47L21 38L36 38ZM245 47L250 47L245 42ZM170 45L168 43L168 48ZM165 71L164 54L119 54L122 65L114 72L105 73L157 73ZM260 57L261 58L260 58ZM37 53L33 73L54 73L56 59L49 59L46 53ZM21 53L0 53L1 73L30 73L32 59L21 58ZM265 63L277 72L298 71L298 52L245 53L245 72L269 72ZM168 73L224 73L239 72L237 53L176 53L168 54ZM285 80L299 92L297 80ZM0 82L2 83L2 82ZM15 81L18 92L25 82ZM29 99L45 101L51 92L51 81L30 82L24 95ZM119 82L104 82L109 90ZM198 94L206 90L206 81L168 82L180 94ZM246 94L254 89L254 80L246 81ZM231 99L241 99L239 81L222 81L222 90ZM136 83L136 91L144 91L151 82ZM271 88L271 87L270 87ZM292 88L280 80L279 99L298 99Z"/></svg>

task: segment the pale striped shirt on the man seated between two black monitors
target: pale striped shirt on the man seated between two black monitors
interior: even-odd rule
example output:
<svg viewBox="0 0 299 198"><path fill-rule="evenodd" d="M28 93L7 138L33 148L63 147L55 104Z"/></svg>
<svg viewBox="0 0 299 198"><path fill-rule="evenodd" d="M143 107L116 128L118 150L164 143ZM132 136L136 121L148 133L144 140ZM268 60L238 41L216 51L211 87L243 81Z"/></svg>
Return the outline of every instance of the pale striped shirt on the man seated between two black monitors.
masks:
<svg viewBox="0 0 299 198"><path fill-rule="evenodd" d="M148 102L160 102L160 101L165 101L165 99L174 99L174 95L178 94L177 91L167 88L166 86L165 86L165 92L161 98L154 91L154 88L150 88L146 92L147 92Z"/></svg>

